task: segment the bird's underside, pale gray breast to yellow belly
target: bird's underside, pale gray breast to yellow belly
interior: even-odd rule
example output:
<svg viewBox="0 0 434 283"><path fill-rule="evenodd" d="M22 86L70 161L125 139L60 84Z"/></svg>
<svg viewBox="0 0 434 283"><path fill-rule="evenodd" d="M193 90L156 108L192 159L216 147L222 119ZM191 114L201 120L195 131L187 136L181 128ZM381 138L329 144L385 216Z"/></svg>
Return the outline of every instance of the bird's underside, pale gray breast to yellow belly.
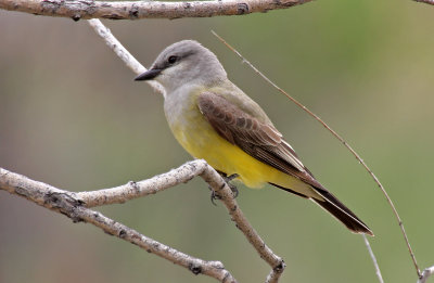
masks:
<svg viewBox="0 0 434 283"><path fill-rule="evenodd" d="M182 97L182 94L188 94ZM213 168L227 173L238 173L239 180L250 188L275 183L309 197L319 195L309 184L252 157L231 144L214 130L200 112L193 92L178 93L165 100L165 114L175 138L193 157L205 159Z"/></svg>

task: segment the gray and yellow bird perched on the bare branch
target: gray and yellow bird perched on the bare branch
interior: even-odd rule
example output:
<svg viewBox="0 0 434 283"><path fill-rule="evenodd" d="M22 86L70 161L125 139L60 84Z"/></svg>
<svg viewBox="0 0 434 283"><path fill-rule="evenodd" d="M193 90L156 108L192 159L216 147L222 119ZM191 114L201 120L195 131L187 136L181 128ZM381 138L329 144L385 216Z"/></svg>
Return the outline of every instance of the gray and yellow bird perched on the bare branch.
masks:
<svg viewBox="0 0 434 283"><path fill-rule="evenodd" d="M167 47L136 80L165 88L164 111L178 142L195 158L250 188L270 183L308 198L354 233L373 235L303 165L260 106L233 85L208 49L193 40Z"/></svg>

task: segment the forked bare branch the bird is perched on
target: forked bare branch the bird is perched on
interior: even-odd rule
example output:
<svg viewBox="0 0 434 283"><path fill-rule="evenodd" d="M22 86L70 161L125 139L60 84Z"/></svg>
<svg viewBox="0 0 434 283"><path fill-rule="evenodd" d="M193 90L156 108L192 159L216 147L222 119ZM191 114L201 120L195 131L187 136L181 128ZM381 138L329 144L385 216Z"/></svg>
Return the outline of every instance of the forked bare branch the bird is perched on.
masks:
<svg viewBox="0 0 434 283"><path fill-rule="evenodd" d="M169 172L155 176L151 179L139 182L130 181L116 188L90 192L61 190L0 168L0 190L22 196L55 213L63 214L74 222L91 223L107 234L138 245L149 253L187 268L194 274L205 274L220 282L235 283L237 280L225 269L220 261L194 258L142 235L138 231L110 219L99 211L90 209L102 205L122 204L132 198L155 194L179 183L186 183L197 176L202 177L209 184L218 198L225 204L237 228L243 232L259 256L271 267L271 271L265 282L278 282L285 268L285 263L279 256L273 254L250 224L239 208L237 201L233 198L231 189L221 176L203 159L189 162Z"/></svg>

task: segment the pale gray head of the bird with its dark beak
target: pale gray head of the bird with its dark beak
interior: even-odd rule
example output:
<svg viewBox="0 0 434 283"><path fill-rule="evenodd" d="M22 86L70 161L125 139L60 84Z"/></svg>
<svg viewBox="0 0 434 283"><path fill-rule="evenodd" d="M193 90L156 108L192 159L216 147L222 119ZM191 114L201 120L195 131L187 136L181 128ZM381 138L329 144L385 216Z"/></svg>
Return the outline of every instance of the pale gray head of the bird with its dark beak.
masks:
<svg viewBox="0 0 434 283"><path fill-rule="evenodd" d="M176 42L156 57L135 80L155 79L170 92L184 83L213 86L227 78L217 56L194 40Z"/></svg>

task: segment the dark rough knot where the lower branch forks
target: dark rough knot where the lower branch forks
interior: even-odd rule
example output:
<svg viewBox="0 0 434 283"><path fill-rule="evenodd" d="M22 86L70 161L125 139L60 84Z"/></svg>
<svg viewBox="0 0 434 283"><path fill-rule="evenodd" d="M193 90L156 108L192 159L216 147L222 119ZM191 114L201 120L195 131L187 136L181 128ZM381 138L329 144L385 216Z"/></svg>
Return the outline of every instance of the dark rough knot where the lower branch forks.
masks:
<svg viewBox="0 0 434 283"><path fill-rule="evenodd" d="M84 221L76 211L84 203L68 193L49 192L43 196L43 202L51 206L52 209L69 217L74 223Z"/></svg>

